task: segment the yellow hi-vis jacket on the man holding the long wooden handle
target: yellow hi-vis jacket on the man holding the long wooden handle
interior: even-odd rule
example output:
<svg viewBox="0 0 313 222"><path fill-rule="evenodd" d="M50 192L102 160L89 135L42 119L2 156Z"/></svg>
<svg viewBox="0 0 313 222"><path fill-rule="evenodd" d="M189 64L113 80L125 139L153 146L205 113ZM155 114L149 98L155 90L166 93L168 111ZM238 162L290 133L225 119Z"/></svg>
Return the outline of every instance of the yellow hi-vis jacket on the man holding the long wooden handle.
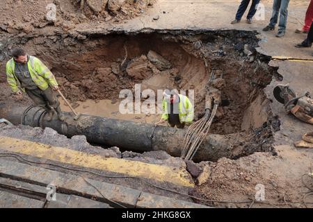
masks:
<svg viewBox="0 0 313 222"><path fill-rule="evenodd" d="M31 79L38 86L38 88L45 90L50 86L57 86L56 78L51 71L35 56L29 56L27 61L29 67L29 74ZM13 92L18 92L19 88L22 89L21 83L15 76L15 60L11 58L6 63L6 79ZM24 91L24 89L22 89Z"/></svg>

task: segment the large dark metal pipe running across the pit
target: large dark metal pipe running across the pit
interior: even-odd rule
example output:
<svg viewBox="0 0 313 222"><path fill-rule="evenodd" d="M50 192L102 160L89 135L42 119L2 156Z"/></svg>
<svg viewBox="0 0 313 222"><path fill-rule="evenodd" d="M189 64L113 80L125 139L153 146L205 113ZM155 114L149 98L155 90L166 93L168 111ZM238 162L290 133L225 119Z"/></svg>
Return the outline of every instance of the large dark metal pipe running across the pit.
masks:
<svg viewBox="0 0 313 222"><path fill-rule="evenodd" d="M11 123L33 127L49 127L62 135L72 137L85 135L88 142L106 146L118 146L129 151L166 151L179 157L184 147L186 129L136 123L119 119L109 119L82 114L77 121L70 112L65 113L65 121L45 119L45 110L38 106L18 107L0 104L0 117ZM230 136L210 134L196 153L194 160L216 161L220 157L230 157Z"/></svg>

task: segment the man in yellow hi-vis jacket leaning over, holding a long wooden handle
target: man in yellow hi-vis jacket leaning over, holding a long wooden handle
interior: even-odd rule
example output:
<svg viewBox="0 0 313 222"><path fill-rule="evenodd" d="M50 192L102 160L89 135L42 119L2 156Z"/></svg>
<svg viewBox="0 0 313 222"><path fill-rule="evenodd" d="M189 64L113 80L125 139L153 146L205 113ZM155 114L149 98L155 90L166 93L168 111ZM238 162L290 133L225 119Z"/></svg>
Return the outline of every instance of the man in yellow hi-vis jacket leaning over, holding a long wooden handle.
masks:
<svg viewBox="0 0 313 222"><path fill-rule="evenodd" d="M58 119L64 121L60 102L53 92L58 90L58 83L51 71L38 58L27 55L23 49L13 49L12 55L13 58L6 63L6 77L13 93L22 97L23 92L26 92L36 105L45 108L45 118L48 121L53 118L54 110Z"/></svg>

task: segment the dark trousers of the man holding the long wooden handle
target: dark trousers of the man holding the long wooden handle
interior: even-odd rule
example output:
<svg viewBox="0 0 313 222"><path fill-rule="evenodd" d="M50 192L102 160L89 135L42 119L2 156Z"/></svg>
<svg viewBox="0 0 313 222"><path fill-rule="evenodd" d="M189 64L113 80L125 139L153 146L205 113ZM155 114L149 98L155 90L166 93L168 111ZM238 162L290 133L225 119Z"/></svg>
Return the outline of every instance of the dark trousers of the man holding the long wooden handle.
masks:
<svg viewBox="0 0 313 222"><path fill-rule="evenodd" d="M60 110L60 102L56 98L56 94L52 91L50 87L45 90L37 89L25 89L26 94L33 100L35 105L42 106L47 110L51 111L54 108L57 112Z"/></svg>

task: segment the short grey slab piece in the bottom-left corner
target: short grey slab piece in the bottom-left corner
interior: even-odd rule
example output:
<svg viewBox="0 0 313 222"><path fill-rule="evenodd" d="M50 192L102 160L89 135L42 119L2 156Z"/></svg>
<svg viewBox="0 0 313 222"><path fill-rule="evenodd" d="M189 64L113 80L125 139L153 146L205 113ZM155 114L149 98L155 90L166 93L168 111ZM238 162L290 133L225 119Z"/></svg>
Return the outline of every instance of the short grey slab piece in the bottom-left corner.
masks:
<svg viewBox="0 0 313 222"><path fill-rule="evenodd" d="M0 208L42 208L45 202L0 191Z"/></svg>

